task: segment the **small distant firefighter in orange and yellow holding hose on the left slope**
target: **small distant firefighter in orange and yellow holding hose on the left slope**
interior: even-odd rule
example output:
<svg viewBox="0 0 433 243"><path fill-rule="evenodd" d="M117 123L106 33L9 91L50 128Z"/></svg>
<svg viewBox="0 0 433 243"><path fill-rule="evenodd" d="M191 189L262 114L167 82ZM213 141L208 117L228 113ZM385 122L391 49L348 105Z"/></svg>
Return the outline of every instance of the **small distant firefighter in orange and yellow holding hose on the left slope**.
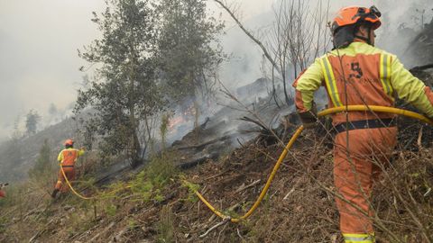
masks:
<svg viewBox="0 0 433 243"><path fill-rule="evenodd" d="M72 139L67 139L64 143L65 148L60 151L59 157L57 160L60 162L60 171L57 178L57 183L54 187L54 191L51 193L51 197L55 198L57 193L66 193L68 192L68 184L65 182L65 177L61 172L61 169L65 172L65 175L68 177L69 182L75 180L75 162L77 158L84 154L84 148L80 148L79 150L74 148L74 141Z"/></svg>

